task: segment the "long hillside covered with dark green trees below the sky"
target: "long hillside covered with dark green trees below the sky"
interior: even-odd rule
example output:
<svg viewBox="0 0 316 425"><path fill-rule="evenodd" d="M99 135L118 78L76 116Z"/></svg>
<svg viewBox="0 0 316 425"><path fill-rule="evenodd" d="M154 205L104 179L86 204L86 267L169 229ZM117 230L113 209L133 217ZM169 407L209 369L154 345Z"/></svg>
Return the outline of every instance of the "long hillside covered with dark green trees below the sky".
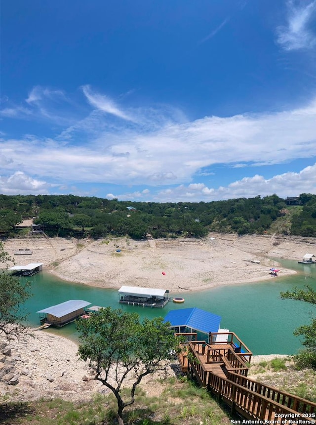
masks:
<svg viewBox="0 0 316 425"><path fill-rule="evenodd" d="M0 195L0 232L14 236L18 224L33 218L51 237L200 238L210 231L244 235L274 228L316 236L316 195L303 193L294 205L289 199L274 194L208 203L155 203L75 195ZM286 226L276 226L286 217L290 217Z"/></svg>

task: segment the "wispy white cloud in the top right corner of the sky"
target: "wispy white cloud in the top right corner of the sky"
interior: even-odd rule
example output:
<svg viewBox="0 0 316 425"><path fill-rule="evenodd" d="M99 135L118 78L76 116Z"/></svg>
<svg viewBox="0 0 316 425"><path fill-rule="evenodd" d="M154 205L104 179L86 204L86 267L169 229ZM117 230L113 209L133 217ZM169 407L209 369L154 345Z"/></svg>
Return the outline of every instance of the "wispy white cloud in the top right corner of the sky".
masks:
<svg viewBox="0 0 316 425"><path fill-rule="evenodd" d="M287 24L276 29L277 42L285 50L309 49L316 45L316 0L288 0Z"/></svg>

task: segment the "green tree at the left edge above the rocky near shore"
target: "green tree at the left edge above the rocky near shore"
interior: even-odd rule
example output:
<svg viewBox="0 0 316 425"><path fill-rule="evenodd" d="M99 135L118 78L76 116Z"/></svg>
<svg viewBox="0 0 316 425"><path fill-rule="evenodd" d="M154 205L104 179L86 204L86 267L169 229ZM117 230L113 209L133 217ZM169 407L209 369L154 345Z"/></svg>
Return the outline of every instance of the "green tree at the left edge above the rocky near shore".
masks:
<svg viewBox="0 0 316 425"><path fill-rule="evenodd" d="M0 243L0 262L5 263L9 256ZM7 270L0 271L0 335L18 337L25 330L23 321L27 314L23 314L23 304L29 298L29 285L22 285L21 281L8 274Z"/></svg>

